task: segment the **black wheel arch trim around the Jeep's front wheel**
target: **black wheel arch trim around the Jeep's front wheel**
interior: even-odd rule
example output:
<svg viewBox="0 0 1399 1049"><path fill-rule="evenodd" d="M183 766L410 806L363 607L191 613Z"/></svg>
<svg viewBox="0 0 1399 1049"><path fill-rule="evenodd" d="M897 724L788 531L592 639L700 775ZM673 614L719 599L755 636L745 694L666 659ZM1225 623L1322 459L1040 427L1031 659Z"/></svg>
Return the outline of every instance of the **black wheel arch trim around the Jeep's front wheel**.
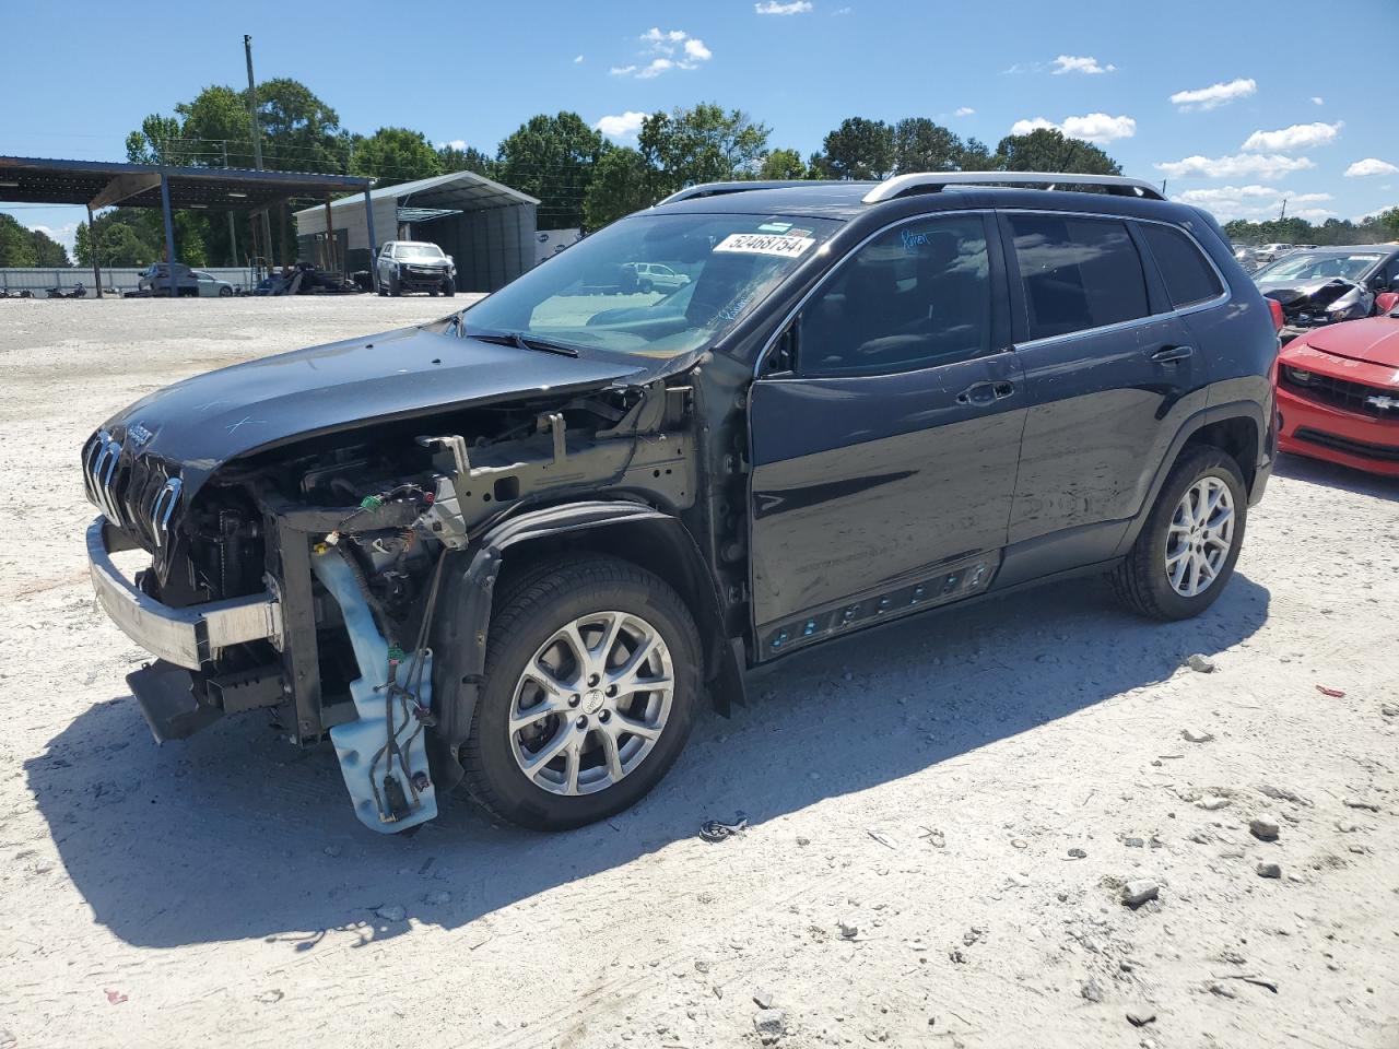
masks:
<svg viewBox="0 0 1399 1049"><path fill-rule="evenodd" d="M732 699L744 702L741 639L723 638L723 617L713 576L679 518L634 501L571 502L508 518L449 554L432 624L436 727L428 733L428 757L439 789L456 786L463 773L459 752L471 732L471 718L485 684L485 645L491 631L495 583L511 547L589 529L641 524L674 530L670 540L687 551L688 575L705 580L691 589L708 596L708 607L691 608L705 645L705 681L713 705L727 715Z"/></svg>

